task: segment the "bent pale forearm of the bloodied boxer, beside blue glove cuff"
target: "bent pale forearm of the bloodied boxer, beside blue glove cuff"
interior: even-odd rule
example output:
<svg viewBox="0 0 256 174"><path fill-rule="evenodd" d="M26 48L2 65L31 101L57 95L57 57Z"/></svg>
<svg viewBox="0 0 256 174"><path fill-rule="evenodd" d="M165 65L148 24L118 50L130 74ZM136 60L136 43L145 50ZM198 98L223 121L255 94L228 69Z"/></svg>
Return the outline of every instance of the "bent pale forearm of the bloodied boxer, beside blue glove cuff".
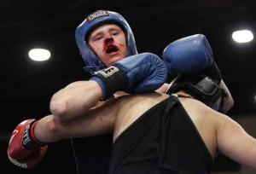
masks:
<svg viewBox="0 0 256 174"><path fill-rule="evenodd" d="M65 121L87 113L101 98L102 89L95 81L79 81L56 92L49 107L56 119Z"/></svg>

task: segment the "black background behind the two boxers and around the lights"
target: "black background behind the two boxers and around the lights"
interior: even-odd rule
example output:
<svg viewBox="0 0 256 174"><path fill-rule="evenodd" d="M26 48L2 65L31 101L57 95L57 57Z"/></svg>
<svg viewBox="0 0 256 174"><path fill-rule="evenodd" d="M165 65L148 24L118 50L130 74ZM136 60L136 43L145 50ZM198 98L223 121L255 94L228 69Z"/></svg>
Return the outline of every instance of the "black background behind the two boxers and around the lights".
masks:
<svg viewBox="0 0 256 174"><path fill-rule="evenodd" d="M89 77L82 70L74 32L97 9L119 12L129 22L138 52L161 55L178 38L202 33L212 46L224 82L234 97L228 113L234 119L255 120L255 39L237 44L231 34L256 33L256 1L218 0L2 0L0 4L0 166L9 172L75 173L69 140L50 144L42 162L32 170L12 165L6 154L10 133L24 119L49 114L49 99L67 84ZM28 58L32 48L51 51L49 61ZM239 165L219 155L214 171L237 171Z"/></svg>

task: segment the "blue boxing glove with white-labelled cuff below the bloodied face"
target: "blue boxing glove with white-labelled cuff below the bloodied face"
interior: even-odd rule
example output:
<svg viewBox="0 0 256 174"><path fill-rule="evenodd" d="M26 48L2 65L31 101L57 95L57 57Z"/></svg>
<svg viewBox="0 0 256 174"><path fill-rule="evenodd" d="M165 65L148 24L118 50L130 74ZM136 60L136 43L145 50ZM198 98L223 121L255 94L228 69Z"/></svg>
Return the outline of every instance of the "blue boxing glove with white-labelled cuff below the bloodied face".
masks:
<svg viewBox="0 0 256 174"><path fill-rule="evenodd" d="M90 80L100 84L104 100L119 90L130 94L153 92L166 82L166 78L166 65L160 57L143 53L131 55L97 71Z"/></svg>

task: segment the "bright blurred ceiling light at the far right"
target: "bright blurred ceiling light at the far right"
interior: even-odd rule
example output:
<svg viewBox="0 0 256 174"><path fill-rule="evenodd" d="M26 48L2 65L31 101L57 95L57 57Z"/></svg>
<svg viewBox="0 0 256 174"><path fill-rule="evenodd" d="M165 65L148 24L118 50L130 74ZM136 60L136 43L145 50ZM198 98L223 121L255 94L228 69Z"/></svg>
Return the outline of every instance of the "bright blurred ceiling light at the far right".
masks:
<svg viewBox="0 0 256 174"><path fill-rule="evenodd" d="M247 43L253 40L253 32L248 30L236 31L236 32L233 32L232 38L237 43Z"/></svg>

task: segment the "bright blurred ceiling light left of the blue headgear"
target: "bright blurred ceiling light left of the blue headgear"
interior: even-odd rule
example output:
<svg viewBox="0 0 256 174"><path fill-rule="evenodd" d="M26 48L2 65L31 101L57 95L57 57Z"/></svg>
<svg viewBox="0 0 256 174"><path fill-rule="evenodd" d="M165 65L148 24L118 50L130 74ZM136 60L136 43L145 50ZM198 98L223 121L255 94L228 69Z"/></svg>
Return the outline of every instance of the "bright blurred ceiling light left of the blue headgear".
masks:
<svg viewBox="0 0 256 174"><path fill-rule="evenodd" d="M47 49L31 49L28 55L33 61L46 61L50 57L50 52Z"/></svg>

